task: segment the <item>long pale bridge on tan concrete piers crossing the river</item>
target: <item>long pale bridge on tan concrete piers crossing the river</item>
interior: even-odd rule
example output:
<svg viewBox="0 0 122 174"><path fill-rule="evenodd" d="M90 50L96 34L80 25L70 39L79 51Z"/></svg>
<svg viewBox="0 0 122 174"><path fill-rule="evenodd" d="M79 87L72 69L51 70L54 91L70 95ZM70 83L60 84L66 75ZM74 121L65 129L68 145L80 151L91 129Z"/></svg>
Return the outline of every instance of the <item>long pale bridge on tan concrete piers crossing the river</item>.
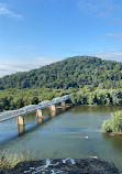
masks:
<svg viewBox="0 0 122 174"><path fill-rule="evenodd" d="M19 134L22 134L24 132L24 116L31 112L36 111L36 118L37 118L37 124L42 123L42 120L44 118L43 116L43 109L49 107L51 108L51 115L56 115L56 105L62 104L63 108L66 108L66 100L70 99L70 95L65 95L63 97L56 97L52 100L45 100L42 102L38 102L38 105L29 105L24 106L18 110L9 110L4 112L0 112L0 122L7 121L12 118L16 118L18 121L18 128L19 128Z"/></svg>

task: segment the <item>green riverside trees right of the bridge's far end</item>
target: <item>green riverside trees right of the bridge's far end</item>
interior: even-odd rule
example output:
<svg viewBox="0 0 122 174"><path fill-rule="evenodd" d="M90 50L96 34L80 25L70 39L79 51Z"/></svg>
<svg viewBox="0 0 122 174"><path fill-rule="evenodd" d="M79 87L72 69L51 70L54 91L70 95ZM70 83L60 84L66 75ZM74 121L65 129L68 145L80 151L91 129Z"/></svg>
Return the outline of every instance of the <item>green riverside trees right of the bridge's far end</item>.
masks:
<svg viewBox="0 0 122 174"><path fill-rule="evenodd" d="M96 89L87 91L85 88L71 95L74 105L122 105L122 89Z"/></svg>

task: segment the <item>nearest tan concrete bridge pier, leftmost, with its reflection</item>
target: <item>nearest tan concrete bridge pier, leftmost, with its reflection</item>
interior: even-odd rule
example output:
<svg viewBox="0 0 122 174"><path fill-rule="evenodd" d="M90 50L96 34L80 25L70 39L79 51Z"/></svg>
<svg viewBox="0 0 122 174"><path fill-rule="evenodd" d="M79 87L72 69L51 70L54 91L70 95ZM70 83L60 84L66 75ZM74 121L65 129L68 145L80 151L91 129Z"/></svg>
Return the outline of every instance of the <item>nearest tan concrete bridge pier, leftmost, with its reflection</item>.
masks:
<svg viewBox="0 0 122 174"><path fill-rule="evenodd" d="M25 124L24 124L24 118L21 117L21 116L19 116L18 119L16 119L16 121L18 121L19 135L21 135L21 134L24 133L24 127L25 127Z"/></svg>

